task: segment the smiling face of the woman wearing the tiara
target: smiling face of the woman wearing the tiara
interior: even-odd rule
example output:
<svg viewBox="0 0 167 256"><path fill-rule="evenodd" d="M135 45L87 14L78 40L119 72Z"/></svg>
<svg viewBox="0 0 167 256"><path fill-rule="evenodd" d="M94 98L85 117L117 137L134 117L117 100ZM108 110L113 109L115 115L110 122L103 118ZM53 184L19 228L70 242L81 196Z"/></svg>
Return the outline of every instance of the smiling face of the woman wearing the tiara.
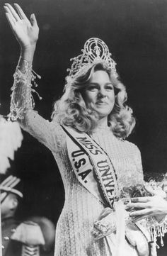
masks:
<svg viewBox="0 0 167 256"><path fill-rule="evenodd" d="M115 104L115 92L108 73L98 70L91 76L83 94L86 106L97 111L100 118L107 117Z"/></svg>

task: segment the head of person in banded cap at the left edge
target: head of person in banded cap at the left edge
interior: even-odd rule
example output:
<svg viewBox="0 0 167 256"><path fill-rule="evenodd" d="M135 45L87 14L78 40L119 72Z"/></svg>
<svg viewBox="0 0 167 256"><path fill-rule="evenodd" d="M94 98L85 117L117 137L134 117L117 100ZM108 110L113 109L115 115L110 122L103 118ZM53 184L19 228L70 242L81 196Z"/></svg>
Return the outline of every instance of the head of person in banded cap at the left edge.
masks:
<svg viewBox="0 0 167 256"><path fill-rule="evenodd" d="M12 175L6 177L0 184L1 219L12 218L23 198L21 192L21 179Z"/></svg>

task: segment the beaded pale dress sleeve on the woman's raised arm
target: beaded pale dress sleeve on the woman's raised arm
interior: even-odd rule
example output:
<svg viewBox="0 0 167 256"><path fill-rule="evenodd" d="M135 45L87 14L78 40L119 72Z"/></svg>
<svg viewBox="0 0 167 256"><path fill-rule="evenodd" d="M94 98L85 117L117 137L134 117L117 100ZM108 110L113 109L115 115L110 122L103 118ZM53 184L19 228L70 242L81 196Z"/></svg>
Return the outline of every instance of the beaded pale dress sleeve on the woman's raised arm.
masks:
<svg viewBox="0 0 167 256"><path fill-rule="evenodd" d="M56 124L45 120L33 110L35 103L32 92L36 92L34 87L37 87L37 84L32 66L24 60L24 69L21 72L17 66L13 77L9 118L12 121L18 120L23 130L28 131L50 150L56 150Z"/></svg>

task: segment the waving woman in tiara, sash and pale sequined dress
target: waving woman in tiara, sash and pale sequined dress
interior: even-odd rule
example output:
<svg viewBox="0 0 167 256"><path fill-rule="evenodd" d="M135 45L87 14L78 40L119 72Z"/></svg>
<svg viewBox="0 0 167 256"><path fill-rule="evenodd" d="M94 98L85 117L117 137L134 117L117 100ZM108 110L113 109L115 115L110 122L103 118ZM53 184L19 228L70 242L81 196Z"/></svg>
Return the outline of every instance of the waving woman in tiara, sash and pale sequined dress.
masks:
<svg viewBox="0 0 167 256"><path fill-rule="evenodd" d="M31 95L38 24L34 14L28 21L21 7L15 7L16 11L10 4L4 6L21 45L10 118L20 119L28 133L50 148L62 175L65 202L57 223L55 255L148 255L142 233L139 236L145 254L128 231L123 251L117 250L117 241L124 240L119 233L121 221L117 220L124 219L125 212L117 197L122 187L142 183L143 173L137 146L123 140L132 132L135 121L125 105L126 90L117 79L107 45L98 38L86 41L82 54L73 59L64 94L54 104L52 122L48 122L33 111ZM95 240L91 229L107 206L117 235L113 231L109 240L107 236Z"/></svg>

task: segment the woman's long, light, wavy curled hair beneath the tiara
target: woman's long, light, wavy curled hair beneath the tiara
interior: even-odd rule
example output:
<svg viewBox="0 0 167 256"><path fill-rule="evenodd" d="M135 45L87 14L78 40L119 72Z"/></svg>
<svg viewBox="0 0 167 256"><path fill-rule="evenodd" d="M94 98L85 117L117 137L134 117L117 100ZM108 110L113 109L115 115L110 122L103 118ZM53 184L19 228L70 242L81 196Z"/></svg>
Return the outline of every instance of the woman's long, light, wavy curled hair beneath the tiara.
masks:
<svg viewBox="0 0 167 256"><path fill-rule="evenodd" d="M127 92L124 84L114 77L112 70L103 62L91 65L86 71L84 67L84 72L80 70L74 79L67 79L64 94L54 103L52 119L81 132L91 133L97 127L98 113L86 106L82 91L86 88L93 72L98 70L108 73L115 90L115 105L108 116L110 130L116 137L126 138L135 126L135 118L132 116L132 109L125 104Z"/></svg>

